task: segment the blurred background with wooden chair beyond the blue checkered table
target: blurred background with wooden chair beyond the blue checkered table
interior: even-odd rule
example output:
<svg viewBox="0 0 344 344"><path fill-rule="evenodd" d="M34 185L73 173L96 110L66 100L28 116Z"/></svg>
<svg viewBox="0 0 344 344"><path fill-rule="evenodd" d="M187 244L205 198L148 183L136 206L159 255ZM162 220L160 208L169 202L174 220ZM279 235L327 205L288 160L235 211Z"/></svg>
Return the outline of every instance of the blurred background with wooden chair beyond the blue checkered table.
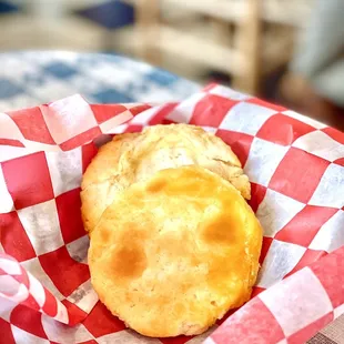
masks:
<svg viewBox="0 0 344 344"><path fill-rule="evenodd" d="M344 0L0 0L0 51L124 54L343 129L343 18Z"/></svg>

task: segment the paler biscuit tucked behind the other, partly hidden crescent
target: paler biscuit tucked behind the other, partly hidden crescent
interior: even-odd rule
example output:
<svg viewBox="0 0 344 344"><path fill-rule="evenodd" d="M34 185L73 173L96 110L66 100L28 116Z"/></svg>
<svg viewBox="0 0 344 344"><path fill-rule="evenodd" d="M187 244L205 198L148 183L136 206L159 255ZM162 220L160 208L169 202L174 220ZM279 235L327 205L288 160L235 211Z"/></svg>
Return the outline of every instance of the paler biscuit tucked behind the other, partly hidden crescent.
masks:
<svg viewBox="0 0 344 344"><path fill-rule="evenodd" d="M221 175L250 199L249 178L231 148L220 138L194 125L154 125L141 134L117 135L99 150L81 185L85 230L97 225L119 191L160 170L192 164Z"/></svg>

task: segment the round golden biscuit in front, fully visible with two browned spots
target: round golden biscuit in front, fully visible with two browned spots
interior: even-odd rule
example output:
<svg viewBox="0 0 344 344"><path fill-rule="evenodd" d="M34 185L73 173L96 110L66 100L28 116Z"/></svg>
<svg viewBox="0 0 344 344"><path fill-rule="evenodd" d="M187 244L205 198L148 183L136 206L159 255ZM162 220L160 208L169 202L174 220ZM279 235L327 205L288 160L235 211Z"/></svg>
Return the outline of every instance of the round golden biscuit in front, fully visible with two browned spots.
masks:
<svg viewBox="0 0 344 344"><path fill-rule="evenodd" d="M246 302L262 244L239 191L200 166L132 184L90 235L100 300L131 328L161 337L200 334Z"/></svg>

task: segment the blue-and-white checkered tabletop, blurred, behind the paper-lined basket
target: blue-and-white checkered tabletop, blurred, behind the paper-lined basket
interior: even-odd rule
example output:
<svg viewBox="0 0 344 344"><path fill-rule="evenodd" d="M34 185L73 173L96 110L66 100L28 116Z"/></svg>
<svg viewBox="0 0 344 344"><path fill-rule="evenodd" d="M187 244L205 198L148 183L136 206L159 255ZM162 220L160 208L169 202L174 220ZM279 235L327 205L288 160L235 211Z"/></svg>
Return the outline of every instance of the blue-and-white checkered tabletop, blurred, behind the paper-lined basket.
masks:
<svg viewBox="0 0 344 344"><path fill-rule="evenodd" d="M91 103L182 100L200 85L117 54L65 51L0 53L0 112L74 93Z"/></svg>

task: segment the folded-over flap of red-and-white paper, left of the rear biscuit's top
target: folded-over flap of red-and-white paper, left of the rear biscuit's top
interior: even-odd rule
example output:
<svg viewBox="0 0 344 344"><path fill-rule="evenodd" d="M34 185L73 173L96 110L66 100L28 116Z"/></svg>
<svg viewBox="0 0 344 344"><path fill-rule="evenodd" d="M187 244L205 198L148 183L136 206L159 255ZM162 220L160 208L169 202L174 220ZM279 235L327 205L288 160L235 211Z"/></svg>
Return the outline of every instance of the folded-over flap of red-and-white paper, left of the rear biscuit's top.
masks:
<svg viewBox="0 0 344 344"><path fill-rule="evenodd" d="M131 120L136 111L150 104L89 104L74 94L48 104L0 113L0 144L37 151L67 151L87 144L100 134ZM28 123L22 125L21 119ZM30 123L31 122L31 123ZM32 128L28 130L28 124ZM26 128L23 128L26 127ZM22 130L24 129L24 132ZM37 140L33 140L37 134ZM77 142L68 143L75 136Z"/></svg>

